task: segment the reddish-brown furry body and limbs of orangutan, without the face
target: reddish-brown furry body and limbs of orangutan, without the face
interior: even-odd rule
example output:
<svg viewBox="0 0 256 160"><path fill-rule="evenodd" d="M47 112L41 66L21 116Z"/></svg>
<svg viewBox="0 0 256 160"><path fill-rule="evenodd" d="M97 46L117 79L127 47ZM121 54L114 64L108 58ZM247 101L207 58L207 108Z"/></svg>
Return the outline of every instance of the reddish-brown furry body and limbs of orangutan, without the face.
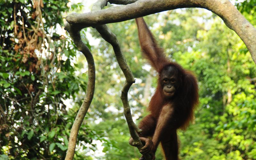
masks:
<svg viewBox="0 0 256 160"><path fill-rule="evenodd" d="M190 71L183 69L178 63L171 62L165 57L163 50L158 47L143 18L136 19L136 23L143 55L159 73L156 92L148 106L150 114L140 122L139 128L142 129L142 132L139 135L140 137L152 138L153 147L148 149L150 145L146 143L144 148L146 153L151 152L152 154L153 152L154 154L159 142L161 142L165 158L168 160L178 159L176 130L179 128L185 129L189 122L193 120L194 108L198 104L197 81ZM167 66L177 68L179 73L180 86L175 91L175 96L171 98L164 96L160 82L161 72Z"/></svg>

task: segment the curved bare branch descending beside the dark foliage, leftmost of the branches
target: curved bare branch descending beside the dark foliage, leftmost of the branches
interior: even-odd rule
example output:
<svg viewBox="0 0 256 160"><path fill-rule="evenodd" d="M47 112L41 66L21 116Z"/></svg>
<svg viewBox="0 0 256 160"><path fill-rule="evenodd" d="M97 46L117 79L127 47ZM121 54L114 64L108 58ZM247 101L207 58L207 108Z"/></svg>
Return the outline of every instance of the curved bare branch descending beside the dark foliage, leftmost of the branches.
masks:
<svg viewBox="0 0 256 160"><path fill-rule="evenodd" d="M95 88L95 65L92 53L89 48L83 43L80 35L80 29L76 29L73 25L68 23L65 25L65 29L69 32L69 35L73 39L78 51L82 52L87 60L88 64L88 83L86 97L76 115L74 124L72 125L69 141L68 141L68 151L65 160L72 160L74 158L76 149L76 138L81 124L83 123L84 116L86 115L90 104L92 102L94 88Z"/></svg>

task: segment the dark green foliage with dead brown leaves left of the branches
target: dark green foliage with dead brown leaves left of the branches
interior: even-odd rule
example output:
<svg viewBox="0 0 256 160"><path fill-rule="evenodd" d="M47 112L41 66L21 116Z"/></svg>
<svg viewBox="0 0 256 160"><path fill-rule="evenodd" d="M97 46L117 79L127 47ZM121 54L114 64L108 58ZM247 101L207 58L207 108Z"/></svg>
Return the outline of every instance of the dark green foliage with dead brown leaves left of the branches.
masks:
<svg viewBox="0 0 256 160"><path fill-rule="evenodd" d="M68 110L67 100L78 100L87 78L75 74L77 52L62 33L68 2L0 1L1 158L59 159L66 155L78 109L74 103ZM72 6L77 7L81 5ZM100 133L87 124L81 128L78 144L86 149L84 145Z"/></svg>

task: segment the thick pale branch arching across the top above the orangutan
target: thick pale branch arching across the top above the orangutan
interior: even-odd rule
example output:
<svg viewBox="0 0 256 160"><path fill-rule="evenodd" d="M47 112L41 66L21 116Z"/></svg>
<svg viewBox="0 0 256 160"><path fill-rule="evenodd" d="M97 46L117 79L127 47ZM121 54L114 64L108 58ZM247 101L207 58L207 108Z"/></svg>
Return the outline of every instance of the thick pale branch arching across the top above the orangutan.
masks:
<svg viewBox="0 0 256 160"><path fill-rule="evenodd" d="M133 1L125 3L124 0L110 0L110 2L127 4ZM256 29L228 0L138 0L132 4L113 6L105 10L82 14L72 13L66 17L66 20L70 24L76 24L77 28L86 28L191 7L205 8L220 16L228 28L234 30L244 41L256 63Z"/></svg>

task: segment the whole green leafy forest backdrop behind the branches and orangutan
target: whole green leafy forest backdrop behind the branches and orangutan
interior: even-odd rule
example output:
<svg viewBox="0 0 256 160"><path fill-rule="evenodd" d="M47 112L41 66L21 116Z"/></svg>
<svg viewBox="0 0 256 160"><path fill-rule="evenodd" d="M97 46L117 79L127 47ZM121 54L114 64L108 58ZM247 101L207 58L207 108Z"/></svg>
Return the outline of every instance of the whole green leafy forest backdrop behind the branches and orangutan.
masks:
<svg viewBox="0 0 256 160"><path fill-rule="evenodd" d="M255 4L236 1L254 26ZM0 2L0 159L65 157L85 95L87 67L62 28L63 17L82 7L68 0ZM203 9L162 12L145 20L166 54L198 78L200 104L194 123L179 131L180 157L256 159L256 65L240 38ZM156 73L141 57L134 20L108 27L136 79L128 96L138 123L147 115ZM112 47L93 28L82 33L94 55L96 88L75 159L138 159L140 153L128 144L119 98L124 76ZM160 149L156 154L162 159Z"/></svg>

